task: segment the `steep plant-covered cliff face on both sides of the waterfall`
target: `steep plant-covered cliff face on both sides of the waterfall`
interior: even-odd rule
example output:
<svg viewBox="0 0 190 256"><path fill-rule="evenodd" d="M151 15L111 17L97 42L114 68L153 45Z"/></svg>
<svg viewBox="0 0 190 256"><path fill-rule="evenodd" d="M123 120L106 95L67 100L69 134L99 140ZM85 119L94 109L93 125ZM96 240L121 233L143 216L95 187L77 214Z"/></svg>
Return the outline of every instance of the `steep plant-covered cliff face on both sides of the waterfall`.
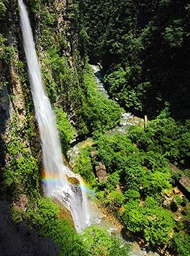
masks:
<svg viewBox="0 0 190 256"><path fill-rule="evenodd" d="M23 52L18 2L1 1L1 199L37 198L41 148ZM53 105L75 116L72 97L80 79L77 34L70 1L26 1L42 78ZM71 89L72 88L72 89Z"/></svg>

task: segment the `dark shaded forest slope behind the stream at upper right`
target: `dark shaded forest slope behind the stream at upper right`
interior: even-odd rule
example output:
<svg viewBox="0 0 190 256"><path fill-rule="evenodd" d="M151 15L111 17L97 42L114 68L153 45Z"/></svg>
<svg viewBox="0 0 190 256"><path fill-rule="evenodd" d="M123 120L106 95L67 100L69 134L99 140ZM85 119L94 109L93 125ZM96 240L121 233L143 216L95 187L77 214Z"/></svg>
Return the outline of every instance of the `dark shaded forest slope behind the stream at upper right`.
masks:
<svg viewBox="0 0 190 256"><path fill-rule="evenodd" d="M102 62L110 94L127 109L155 117L189 112L188 1L80 1L81 40Z"/></svg>

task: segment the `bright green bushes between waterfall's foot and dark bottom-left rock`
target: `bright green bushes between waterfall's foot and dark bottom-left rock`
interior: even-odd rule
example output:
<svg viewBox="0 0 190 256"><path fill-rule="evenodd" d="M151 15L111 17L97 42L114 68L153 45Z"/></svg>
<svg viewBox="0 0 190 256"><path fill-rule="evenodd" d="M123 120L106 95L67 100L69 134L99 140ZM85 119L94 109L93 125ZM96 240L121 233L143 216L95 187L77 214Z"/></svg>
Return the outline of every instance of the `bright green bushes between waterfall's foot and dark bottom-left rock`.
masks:
<svg viewBox="0 0 190 256"><path fill-rule="evenodd" d="M60 219L58 207L50 198L39 198L36 208L30 207L25 213L13 210L13 217L17 221L24 219L39 236L52 238L60 246L60 256L89 255L83 236L76 233L67 219Z"/></svg>

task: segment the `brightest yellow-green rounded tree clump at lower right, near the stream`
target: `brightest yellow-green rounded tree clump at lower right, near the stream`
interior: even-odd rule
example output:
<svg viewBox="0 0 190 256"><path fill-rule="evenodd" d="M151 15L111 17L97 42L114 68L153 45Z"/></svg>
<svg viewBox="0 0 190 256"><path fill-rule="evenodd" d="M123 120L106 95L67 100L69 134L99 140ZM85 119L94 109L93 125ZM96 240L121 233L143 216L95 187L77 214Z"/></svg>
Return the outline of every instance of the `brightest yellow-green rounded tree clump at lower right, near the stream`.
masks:
<svg viewBox="0 0 190 256"><path fill-rule="evenodd" d="M151 205L148 203L151 201ZM154 204L153 204L154 203ZM170 240L175 222L170 211L156 206L153 197L147 197L145 205L129 200L124 206L123 222L133 233L143 233L148 245L163 246Z"/></svg>

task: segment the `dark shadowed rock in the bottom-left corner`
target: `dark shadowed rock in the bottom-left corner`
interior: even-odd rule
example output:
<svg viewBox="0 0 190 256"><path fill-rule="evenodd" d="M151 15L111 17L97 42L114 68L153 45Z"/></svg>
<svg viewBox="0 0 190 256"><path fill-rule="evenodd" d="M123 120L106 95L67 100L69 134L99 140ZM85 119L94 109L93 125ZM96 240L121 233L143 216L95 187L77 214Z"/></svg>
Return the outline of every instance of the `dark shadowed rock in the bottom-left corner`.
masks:
<svg viewBox="0 0 190 256"><path fill-rule="evenodd" d="M9 203L0 201L0 255L58 256L59 247L50 238L40 238L24 222L12 221Z"/></svg>

